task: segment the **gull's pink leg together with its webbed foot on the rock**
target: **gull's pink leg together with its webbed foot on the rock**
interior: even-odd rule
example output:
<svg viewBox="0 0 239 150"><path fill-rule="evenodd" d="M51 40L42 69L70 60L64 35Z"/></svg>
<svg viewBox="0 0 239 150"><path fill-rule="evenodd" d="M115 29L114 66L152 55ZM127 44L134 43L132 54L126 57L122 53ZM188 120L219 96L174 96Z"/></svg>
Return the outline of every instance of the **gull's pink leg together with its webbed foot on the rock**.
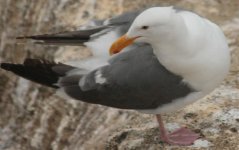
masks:
<svg viewBox="0 0 239 150"><path fill-rule="evenodd" d="M163 120L161 115L156 115L158 123L159 123L159 130L160 130L160 137L161 140L165 143L171 145L192 145L194 141L199 138L199 135L190 131L186 128L180 128L170 134L164 128Z"/></svg>

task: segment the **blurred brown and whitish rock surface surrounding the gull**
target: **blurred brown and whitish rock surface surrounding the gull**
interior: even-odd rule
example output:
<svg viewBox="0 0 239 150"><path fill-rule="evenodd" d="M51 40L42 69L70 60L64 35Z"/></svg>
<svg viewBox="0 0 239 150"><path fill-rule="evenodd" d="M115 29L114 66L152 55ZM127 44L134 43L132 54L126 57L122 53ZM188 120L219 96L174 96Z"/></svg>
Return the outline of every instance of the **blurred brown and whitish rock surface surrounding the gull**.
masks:
<svg viewBox="0 0 239 150"><path fill-rule="evenodd" d="M21 43L16 36L77 29L150 6L174 5L219 24L232 51L231 72L211 95L164 115L169 128L186 125L203 140L175 149L239 149L239 1L238 0L1 0L0 61L26 57L66 62L88 57L83 47ZM215 57L217 57L215 55ZM0 70L0 149L171 149L157 141L154 116L61 99L54 91Z"/></svg>

